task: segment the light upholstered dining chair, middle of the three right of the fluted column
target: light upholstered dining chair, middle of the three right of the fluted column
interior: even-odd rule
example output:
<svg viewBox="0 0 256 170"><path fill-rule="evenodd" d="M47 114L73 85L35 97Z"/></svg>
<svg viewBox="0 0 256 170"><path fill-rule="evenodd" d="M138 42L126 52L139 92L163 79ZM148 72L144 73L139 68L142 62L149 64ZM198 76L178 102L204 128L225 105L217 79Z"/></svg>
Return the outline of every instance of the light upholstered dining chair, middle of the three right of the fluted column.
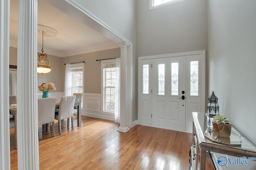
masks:
<svg viewBox="0 0 256 170"><path fill-rule="evenodd" d="M55 119L58 120L58 127L60 135L61 132L61 121L71 117L72 129L74 130L74 104L75 104L76 96L63 96L60 99L60 107L57 111L55 111ZM69 121L68 121L69 126Z"/></svg>

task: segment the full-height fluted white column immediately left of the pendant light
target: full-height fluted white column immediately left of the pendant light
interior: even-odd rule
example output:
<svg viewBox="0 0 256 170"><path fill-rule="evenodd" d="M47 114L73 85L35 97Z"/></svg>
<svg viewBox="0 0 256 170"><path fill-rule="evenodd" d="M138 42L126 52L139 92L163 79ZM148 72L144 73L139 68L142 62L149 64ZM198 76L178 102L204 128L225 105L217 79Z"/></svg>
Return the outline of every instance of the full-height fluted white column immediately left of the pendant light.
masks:
<svg viewBox="0 0 256 170"><path fill-rule="evenodd" d="M38 170L37 0L19 1L17 63L18 169Z"/></svg>

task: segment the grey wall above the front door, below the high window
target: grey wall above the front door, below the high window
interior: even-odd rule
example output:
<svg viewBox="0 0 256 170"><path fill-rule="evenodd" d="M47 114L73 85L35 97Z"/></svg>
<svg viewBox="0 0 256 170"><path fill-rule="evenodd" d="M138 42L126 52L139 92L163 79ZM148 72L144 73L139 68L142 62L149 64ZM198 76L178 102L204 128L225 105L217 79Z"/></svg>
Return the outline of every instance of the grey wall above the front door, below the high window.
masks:
<svg viewBox="0 0 256 170"><path fill-rule="evenodd" d="M184 0L149 10L137 0L137 56L207 50L207 1Z"/></svg>

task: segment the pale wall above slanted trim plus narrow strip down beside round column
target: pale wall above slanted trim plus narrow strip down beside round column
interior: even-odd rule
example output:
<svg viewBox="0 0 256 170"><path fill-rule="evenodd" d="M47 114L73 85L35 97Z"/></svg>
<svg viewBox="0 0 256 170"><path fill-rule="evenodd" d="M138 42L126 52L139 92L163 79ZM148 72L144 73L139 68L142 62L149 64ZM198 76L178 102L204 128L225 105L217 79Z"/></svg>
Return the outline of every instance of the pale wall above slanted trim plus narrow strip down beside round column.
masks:
<svg viewBox="0 0 256 170"><path fill-rule="evenodd" d="M137 119L136 0L74 0L132 42L132 121Z"/></svg>

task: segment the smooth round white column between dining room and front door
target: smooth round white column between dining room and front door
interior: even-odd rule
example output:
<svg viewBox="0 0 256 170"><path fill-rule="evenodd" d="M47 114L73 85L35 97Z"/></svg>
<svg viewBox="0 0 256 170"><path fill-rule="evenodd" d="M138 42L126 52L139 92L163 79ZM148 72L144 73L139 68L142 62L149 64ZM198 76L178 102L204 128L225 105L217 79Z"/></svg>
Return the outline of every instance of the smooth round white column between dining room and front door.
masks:
<svg viewBox="0 0 256 170"><path fill-rule="evenodd" d="M121 58L120 58L120 127L117 131L127 132L130 128L127 127L127 111L126 111L126 96L127 96L127 44L120 43Z"/></svg>

